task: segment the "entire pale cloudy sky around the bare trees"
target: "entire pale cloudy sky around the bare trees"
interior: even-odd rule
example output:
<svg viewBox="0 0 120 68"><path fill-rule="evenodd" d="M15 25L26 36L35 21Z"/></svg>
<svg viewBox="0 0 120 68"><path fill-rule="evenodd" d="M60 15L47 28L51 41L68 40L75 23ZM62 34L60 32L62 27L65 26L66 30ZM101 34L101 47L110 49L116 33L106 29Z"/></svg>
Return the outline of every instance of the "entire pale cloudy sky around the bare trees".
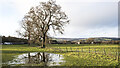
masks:
<svg viewBox="0 0 120 68"><path fill-rule="evenodd" d="M16 36L20 21L32 6L48 0L0 0L0 35ZM118 37L118 0L56 0L70 23L57 38Z"/></svg>

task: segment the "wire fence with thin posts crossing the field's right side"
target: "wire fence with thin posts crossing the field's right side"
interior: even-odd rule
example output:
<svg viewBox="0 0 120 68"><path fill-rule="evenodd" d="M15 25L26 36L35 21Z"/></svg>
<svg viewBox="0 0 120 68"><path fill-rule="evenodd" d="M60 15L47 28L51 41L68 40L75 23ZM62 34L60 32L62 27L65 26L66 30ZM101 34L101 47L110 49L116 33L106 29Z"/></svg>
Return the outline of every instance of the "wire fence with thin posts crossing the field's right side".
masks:
<svg viewBox="0 0 120 68"><path fill-rule="evenodd" d="M114 56L119 59L119 52L117 50L108 50L108 49L97 49L97 48L72 48L72 47L56 47L56 48L50 48L49 51L52 50L53 52L73 52L77 53L78 56L81 55L81 53L89 53L89 54L101 54L101 55L108 55L108 56Z"/></svg>

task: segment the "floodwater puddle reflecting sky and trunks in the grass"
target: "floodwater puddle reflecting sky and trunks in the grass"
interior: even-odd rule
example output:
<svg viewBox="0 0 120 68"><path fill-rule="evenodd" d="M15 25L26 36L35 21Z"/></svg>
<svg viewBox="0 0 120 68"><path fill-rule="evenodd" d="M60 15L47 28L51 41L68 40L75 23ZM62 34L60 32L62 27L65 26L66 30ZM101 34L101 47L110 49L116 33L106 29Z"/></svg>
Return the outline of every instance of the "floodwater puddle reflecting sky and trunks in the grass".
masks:
<svg viewBox="0 0 120 68"><path fill-rule="evenodd" d="M5 64L15 65L15 64L40 64L44 63L46 66L59 66L61 63L65 62L63 56L54 53L46 52L33 52L25 53L16 56L15 59L9 61Z"/></svg>

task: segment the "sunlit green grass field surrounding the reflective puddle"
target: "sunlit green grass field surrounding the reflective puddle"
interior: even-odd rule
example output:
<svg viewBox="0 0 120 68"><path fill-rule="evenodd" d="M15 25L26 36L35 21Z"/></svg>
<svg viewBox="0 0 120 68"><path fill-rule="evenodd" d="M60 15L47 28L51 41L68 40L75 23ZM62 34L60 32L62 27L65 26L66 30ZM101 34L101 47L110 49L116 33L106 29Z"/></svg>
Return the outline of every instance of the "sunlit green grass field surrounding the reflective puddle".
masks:
<svg viewBox="0 0 120 68"><path fill-rule="evenodd" d="M2 62L8 62L15 55L27 52L61 54L66 61L61 66L117 66L119 64L118 45L94 44L49 44L45 49L28 45L2 45Z"/></svg>

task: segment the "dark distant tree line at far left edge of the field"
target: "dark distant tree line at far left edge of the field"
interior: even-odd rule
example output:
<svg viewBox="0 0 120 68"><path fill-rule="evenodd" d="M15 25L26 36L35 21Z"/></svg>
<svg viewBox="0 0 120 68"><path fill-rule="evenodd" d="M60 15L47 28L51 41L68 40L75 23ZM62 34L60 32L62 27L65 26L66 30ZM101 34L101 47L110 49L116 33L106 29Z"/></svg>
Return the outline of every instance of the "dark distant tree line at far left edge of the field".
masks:
<svg viewBox="0 0 120 68"><path fill-rule="evenodd" d="M10 42L12 44L27 44L28 40L24 38L17 38L17 37L5 37L2 36L2 43L5 44L5 42Z"/></svg>

